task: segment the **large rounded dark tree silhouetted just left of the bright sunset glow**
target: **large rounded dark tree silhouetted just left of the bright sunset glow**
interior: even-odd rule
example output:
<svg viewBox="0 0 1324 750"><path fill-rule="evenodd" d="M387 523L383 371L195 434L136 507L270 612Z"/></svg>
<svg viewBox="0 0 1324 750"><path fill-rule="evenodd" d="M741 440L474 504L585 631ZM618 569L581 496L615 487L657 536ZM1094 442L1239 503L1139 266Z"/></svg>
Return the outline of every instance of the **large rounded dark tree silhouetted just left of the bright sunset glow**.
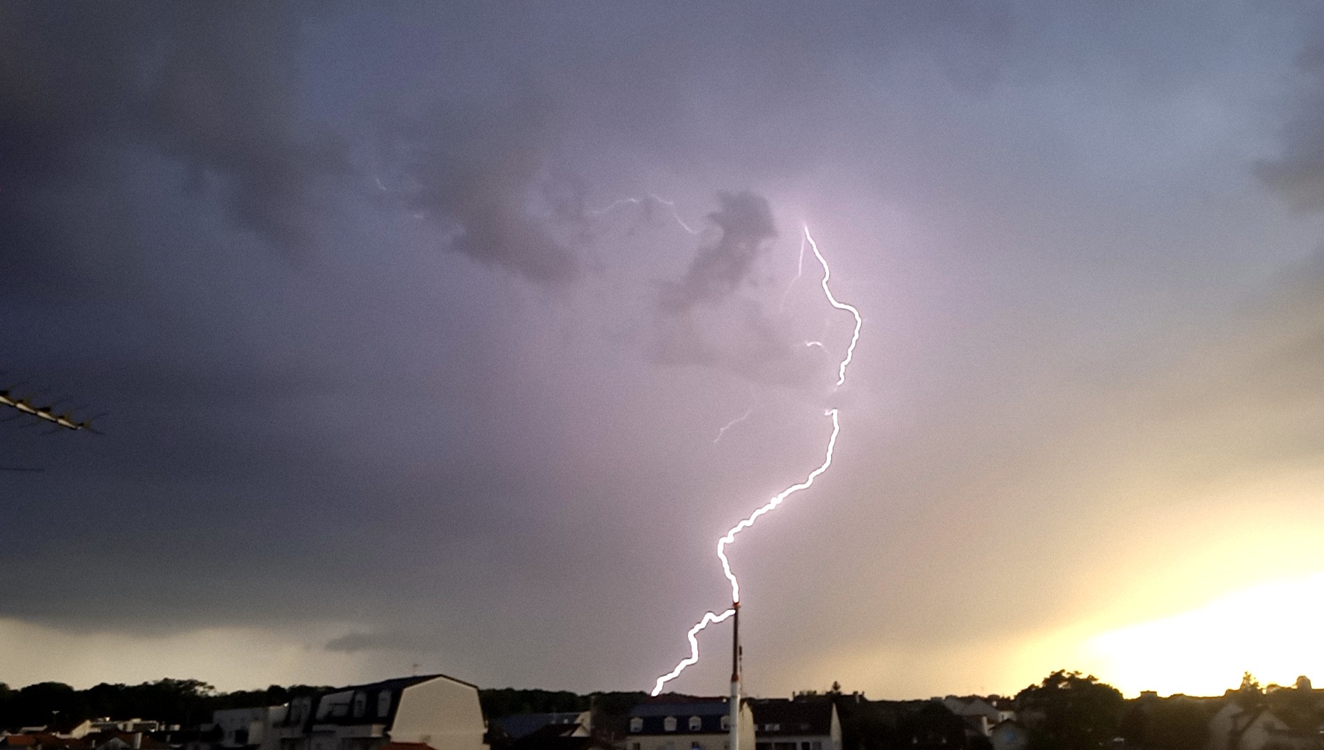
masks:
<svg viewBox="0 0 1324 750"><path fill-rule="evenodd" d="M1094 675L1058 669L1016 694L1031 750L1096 750L1117 735L1121 692Z"/></svg>

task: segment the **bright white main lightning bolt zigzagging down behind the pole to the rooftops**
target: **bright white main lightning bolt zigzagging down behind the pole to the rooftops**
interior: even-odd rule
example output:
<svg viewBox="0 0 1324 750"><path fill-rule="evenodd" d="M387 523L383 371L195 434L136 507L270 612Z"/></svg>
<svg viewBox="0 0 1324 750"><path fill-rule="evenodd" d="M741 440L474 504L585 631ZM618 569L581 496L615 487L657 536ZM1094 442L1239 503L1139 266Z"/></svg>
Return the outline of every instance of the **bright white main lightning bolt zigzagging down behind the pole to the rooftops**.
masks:
<svg viewBox="0 0 1324 750"><path fill-rule="evenodd" d="M824 294L828 296L828 302L837 310L849 311L855 317L855 331L854 333L851 333L850 347L846 349L846 357L841 361L841 365L837 369L838 374L837 386L839 388L842 384L846 382L846 365L850 364L851 358L855 354L855 344L859 341L859 328L861 325L863 325L863 319L861 317L859 311L857 308L854 308L850 304L839 302L835 296L833 296L831 290L828 288L828 279L831 275L831 270L828 267L828 259L824 258L822 253L818 251L818 243L814 242L813 235L809 234L809 226L805 225L804 229L805 229L805 235L804 239L801 239L800 245L801 271L804 270L804 242L808 241L809 246L814 251L814 257L818 258L818 263L824 269L822 288ZM796 278L797 279L800 278L798 274ZM814 345L814 344L822 347L822 344L818 341L812 341L808 345ZM718 540L718 560L722 561L722 573L727 577L727 581L731 583L731 608L726 610L722 614L704 612L703 618L700 618L699 622L696 622L694 627L690 628L690 632L686 636L690 640L690 656L682 659L675 665L675 668L673 668L666 675L658 677L657 683L653 685L651 694L654 696L659 694L662 692L662 688L667 683L679 677L681 672L685 672L687 667L691 667L699 661L698 636L700 631L707 628L710 624L726 620L727 618L730 618L736 612L736 606L739 606L740 603L740 581L736 579L735 573L732 573L731 570L731 561L727 558L727 545L735 544L736 534L752 526L755 521L759 520L760 516L776 511L779 505L781 505L788 497L790 497L796 492L813 487L814 480L818 479L818 476L821 476L825 471L828 471L831 467L833 451L837 448L837 435L841 434L841 419L837 409L829 409L828 411L824 413L824 415L831 417L831 437L828 438L828 450L825 451L824 455L824 463L820 464L818 468L810 471L809 476L806 476L804 481L792 484L790 487L775 495L771 500L768 500L767 503L756 508L752 513L749 513L748 517L743 519L739 524L731 526L731 529L727 530L726 536ZM726 427L723 427L723 430L726 430ZM722 437L720 433L718 437L719 438Z"/></svg>

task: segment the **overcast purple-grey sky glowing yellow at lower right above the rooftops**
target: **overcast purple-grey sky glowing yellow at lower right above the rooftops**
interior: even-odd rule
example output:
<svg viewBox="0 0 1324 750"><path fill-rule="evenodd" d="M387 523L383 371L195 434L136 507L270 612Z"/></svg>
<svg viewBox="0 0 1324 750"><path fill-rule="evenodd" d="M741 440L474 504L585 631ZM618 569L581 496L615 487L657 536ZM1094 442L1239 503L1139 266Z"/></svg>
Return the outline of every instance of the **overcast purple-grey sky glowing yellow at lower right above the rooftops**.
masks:
<svg viewBox="0 0 1324 750"><path fill-rule="evenodd" d="M0 381L106 413L0 423L0 681L647 689L830 407L747 690L1324 677L1313 3L8 3L0 111Z"/></svg>

